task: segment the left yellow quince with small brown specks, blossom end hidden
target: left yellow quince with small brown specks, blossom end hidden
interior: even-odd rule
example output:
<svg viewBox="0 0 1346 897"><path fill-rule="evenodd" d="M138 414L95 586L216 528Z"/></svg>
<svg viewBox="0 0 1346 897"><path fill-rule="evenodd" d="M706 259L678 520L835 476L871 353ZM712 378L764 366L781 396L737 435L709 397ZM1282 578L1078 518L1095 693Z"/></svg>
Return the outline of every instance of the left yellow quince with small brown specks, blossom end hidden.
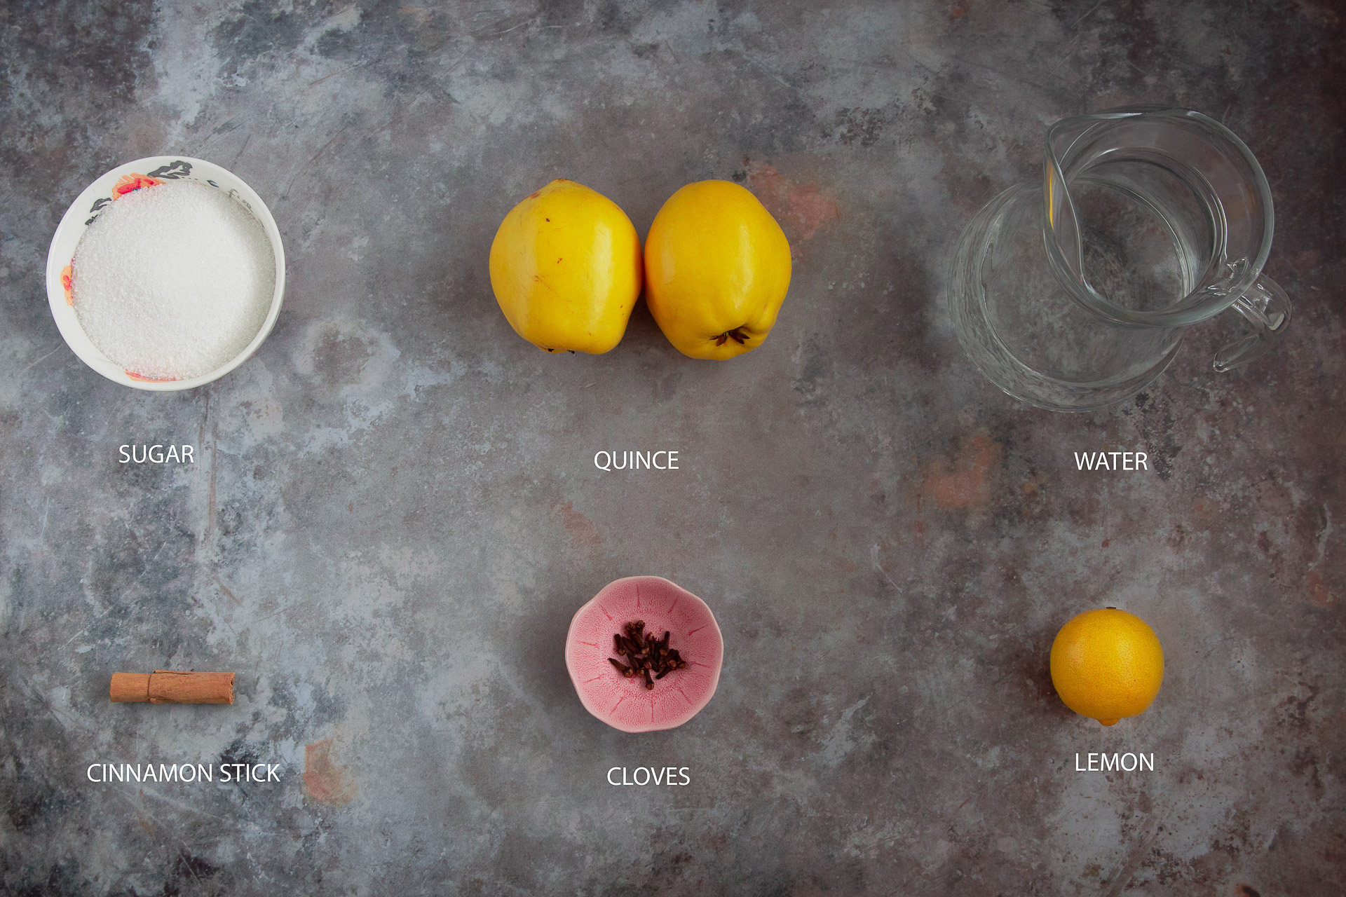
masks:
<svg viewBox="0 0 1346 897"><path fill-rule="evenodd" d="M573 180L553 180L505 215L490 268L516 334L548 352L591 355L622 342L643 277L631 219Z"/></svg>

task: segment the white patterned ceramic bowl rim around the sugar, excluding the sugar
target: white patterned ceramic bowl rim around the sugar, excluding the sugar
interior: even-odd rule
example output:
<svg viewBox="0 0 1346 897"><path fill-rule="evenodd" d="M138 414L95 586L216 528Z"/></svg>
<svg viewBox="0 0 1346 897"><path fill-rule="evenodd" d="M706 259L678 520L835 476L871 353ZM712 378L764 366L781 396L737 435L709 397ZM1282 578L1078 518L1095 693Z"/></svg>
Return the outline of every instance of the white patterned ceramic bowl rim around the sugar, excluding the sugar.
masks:
<svg viewBox="0 0 1346 897"><path fill-rule="evenodd" d="M100 210L113 200L114 195L125 195L132 190L145 186L145 179L153 183L164 180L197 180L225 191L253 214L253 218L267 231L267 239L271 241L272 251L276 256L276 290L272 293L271 309L267 312L267 320L262 323L261 329L257 331L257 335L253 336L244 351L238 352L226 364L201 377L182 381L151 381L131 374L93 344L85 334L83 327L79 325L79 317L75 315L70 300L67 280L70 262L74 258L75 246L79 245L79 238L83 237L85 229L97 218ZM210 381L219 379L248 360L257 351L257 347L261 346L262 340L267 339L271 328L276 325L276 317L280 315L280 300L284 293L285 247L281 246L280 229L276 227L276 219L271 217L267 203L238 175L214 163L205 161L203 159L191 159L190 156L149 156L148 159L137 159L124 165L117 165L98 178L66 210L61 225L57 227L55 237L51 238L51 250L47 253L47 304L51 305L51 316L57 319L57 327L61 329L61 336L65 338L66 346L79 356L79 360L109 381L133 389L162 393L192 389L194 386L202 386Z"/></svg>

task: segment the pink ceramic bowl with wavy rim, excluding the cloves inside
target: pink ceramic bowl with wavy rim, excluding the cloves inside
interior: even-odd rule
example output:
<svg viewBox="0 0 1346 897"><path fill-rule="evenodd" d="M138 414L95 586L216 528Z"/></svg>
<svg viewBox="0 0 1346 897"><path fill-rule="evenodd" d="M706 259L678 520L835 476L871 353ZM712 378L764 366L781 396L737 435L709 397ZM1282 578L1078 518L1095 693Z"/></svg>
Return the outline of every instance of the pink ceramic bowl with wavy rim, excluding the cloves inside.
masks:
<svg viewBox="0 0 1346 897"><path fill-rule="evenodd" d="M645 687L627 679L608 658L612 636L627 623L645 620L645 631L677 648L686 667ZM724 639L705 601L657 576L629 576L603 586L575 612L565 636L565 668L584 709L622 732L673 729L711 702L724 663Z"/></svg>

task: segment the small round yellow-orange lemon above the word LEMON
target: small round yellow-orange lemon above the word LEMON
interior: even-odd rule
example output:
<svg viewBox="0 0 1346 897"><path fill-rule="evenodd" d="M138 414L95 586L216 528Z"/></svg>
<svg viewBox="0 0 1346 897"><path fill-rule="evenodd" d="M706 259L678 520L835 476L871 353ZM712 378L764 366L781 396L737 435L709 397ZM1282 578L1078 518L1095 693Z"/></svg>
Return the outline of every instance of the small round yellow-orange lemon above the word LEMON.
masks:
<svg viewBox="0 0 1346 897"><path fill-rule="evenodd" d="M1067 707L1105 726L1151 705L1164 652L1149 625L1125 611L1085 611L1051 643L1051 685Z"/></svg>

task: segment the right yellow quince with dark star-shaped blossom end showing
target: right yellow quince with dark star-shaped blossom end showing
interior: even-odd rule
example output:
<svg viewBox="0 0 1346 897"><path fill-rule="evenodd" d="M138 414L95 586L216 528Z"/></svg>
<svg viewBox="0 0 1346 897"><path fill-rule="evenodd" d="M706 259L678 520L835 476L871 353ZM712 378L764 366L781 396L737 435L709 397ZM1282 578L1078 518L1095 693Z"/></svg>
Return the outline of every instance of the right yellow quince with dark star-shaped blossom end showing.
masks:
<svg viewBox="0 0 1346 897"><path fill-rule="evenodd" d="M790 289L790 242L744 187L701 180L669 196L645 239L645 301L692 358L751 352Z"/></svg>

